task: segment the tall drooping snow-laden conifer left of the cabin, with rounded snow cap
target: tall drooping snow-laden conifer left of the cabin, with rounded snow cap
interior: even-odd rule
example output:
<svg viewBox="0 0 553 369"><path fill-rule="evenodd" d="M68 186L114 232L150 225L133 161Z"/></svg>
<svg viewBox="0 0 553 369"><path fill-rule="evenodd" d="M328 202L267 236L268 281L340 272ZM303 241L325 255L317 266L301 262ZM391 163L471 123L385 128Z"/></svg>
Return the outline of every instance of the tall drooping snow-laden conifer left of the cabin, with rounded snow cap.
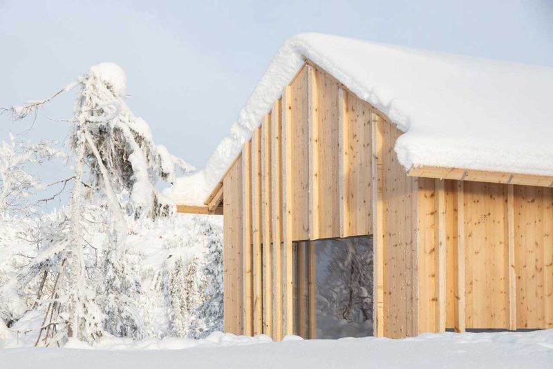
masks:
<svg viewBox="0 0 553 369"><path fill-rule="evenodd" d="M64 295L57 301L57 323L65 324L68 337L90 341L102 335L102 321L130 319L125 309L124 255L126 215L135 219L171 215L175 206L156 189L158 179L172 183L175 172L192 170L163 146L153 142L146 121L135 117L124 102L126 75L113 63L100 63L78 77L52 97L12 107L14 119L36 114L45 103L62 92L79 86L68 147L71 150L73 189L69 204L66 237L42 256L56 260L57 270L66 283ZM104 239L105 253L100 275L109 286L113 299L102 310L90 286L87 255L93 246L86 239L86 209L91 203L106 204L109 218ZM32 261L28 272L39 272L40 263ZM96 276L97 277L97 276ZM57 288L58 286L53 286ZM60 289L61 291L62 289ZM56 292L57 294L58 292ZM52 314L52 310L46 310Z"/></svg>

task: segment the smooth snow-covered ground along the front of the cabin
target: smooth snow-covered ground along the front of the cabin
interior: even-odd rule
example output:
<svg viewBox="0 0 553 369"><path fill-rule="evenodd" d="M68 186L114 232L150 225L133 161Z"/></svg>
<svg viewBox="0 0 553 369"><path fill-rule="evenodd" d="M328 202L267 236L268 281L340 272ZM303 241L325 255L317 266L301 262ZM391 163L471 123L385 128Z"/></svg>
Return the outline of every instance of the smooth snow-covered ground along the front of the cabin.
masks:
<svg viewBox="0 0 553 369"><path fill-rule="evenodd" d="M74 343L68 346L79 347ZM86 346L85 346L86 347ZM9 348L1 368L553 368L553 330L425 334L272 343L215 332L207 339L117 339L100 348Z"/></svg>

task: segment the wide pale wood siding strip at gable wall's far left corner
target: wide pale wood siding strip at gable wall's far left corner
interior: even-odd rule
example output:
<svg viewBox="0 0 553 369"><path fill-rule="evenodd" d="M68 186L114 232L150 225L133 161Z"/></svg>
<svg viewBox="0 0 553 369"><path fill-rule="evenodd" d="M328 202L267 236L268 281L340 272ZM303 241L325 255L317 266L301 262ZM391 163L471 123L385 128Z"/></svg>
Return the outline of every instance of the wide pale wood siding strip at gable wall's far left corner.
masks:
<svg viewBox="0 0 553 369"><path fill-rule="evenodd" d="M223 320L225 332L243 334L242 160L238 158L223 181Z"/></svg>

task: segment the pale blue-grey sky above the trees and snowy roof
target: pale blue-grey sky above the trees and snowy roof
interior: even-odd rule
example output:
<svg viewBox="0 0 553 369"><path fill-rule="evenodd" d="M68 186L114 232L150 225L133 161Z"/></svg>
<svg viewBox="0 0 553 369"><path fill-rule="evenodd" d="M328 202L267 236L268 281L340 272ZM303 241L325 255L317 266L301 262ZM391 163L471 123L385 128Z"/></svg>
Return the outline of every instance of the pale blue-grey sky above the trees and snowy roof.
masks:
<svg viewBox="0 0 553 369"><path fill-rule="evenodd" d="M42 99L88 67L126 70L129 106L157 143L202 168L285 39L324 32L553 66L553 0L0 0L0 106ZM32 139L64 139L74 94ZM0 140L32 121L0 116Z"/></svg>

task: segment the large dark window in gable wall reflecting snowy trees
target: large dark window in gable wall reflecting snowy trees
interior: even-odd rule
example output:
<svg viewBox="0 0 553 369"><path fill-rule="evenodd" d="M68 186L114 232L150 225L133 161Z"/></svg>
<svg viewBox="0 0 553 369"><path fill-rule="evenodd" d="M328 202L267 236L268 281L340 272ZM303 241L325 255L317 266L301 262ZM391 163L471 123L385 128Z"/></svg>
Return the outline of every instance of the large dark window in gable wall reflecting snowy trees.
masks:
<svg viewBox="0 0 553 369"><path fill-rule="evenodd" d="M373 238L294 242L294 334L373 335Z"/></svg>

